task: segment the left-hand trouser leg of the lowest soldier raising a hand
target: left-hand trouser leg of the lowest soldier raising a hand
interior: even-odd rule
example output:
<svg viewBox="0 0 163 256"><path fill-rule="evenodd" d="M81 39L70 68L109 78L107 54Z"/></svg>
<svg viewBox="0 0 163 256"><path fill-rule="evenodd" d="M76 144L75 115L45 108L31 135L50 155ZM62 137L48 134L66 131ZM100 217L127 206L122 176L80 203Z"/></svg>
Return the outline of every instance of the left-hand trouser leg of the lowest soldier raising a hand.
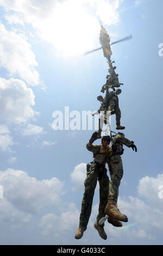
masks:
<svg viewBox="0 0 163 256"><path fill-rule="evenodd" d="M93 164L91 164L90 171L87 172L87 177L84 182L85 192L82 200L82 209L80 213L80 221L79 226L82 226L86 229L87 223L89 222L89 218L92 210L92 201L93 195L95 193L95 188L97 184L97 173Z"/></svg>

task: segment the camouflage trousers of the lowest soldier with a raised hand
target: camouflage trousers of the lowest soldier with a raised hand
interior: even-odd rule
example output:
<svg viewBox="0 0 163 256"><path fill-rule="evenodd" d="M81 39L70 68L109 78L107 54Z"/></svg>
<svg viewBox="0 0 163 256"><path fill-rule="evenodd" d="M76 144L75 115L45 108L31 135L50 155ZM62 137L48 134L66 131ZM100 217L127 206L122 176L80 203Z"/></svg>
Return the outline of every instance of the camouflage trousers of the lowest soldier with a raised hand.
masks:
<svg viewBox="0 0 163 256"><path fill-rule="evenodd" d="M87 171L87 176L84 182L85 191L82 200L82 209L80 213L79 225L87 227L92 210L93 196L97 184L99 182L99 208L97 222L105 216L104 210L108 201L109 192L109 177L106 174L106 169L102 166L94 166L91 164L90 170Z"/></svg>

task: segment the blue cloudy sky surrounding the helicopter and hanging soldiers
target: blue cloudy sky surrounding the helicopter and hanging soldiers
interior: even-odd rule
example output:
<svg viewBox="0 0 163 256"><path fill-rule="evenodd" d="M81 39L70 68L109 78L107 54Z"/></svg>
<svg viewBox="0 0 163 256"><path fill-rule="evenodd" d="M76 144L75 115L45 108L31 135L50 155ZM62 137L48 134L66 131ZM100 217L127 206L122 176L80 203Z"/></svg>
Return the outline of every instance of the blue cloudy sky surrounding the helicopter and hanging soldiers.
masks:
<svg viewBox="0 0 163 256"><path fill-rule="evenodd" d="M162 1L0 0L0 14L0 243L161 245ZM93 228L98 185L87 230L74 239L94 130L52 128L53 112L65 106L81 115L99 108L106 59L102 51L83 56L99 47L97 16L111 41L133 35L112 45L111 59L124 84L121 123L138 149L125 147L118 201L127 224L137 224L116 230L106 223L106 241Z"/></svg>

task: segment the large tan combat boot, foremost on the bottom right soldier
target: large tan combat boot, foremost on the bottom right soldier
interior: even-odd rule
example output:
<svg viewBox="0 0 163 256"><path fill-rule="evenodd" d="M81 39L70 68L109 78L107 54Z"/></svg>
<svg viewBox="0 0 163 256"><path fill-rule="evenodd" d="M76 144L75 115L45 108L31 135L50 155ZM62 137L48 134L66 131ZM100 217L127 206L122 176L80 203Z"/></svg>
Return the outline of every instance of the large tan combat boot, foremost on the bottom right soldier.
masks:
<svg viewBox="0 0 163 256"><path fill-rule="evenodd" d="M128 222L127 216L120 212L114 200L108 200L104 213L112 218L118 219L118 221Z"/></svg>

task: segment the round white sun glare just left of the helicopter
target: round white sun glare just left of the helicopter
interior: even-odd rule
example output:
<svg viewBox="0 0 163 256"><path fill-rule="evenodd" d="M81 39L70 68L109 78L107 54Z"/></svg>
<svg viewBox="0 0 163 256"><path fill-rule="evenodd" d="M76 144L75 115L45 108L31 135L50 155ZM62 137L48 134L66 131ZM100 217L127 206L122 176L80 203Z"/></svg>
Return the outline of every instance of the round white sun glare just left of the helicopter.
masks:
<svg viewBox="0 0 163 256"><path fill-rule="evenodd" d="M87 13L83 5L74 0L58 4L53 16L41 24L42 37L65 56L78 56L91 50L98 31L96 16Z"/></svg>

